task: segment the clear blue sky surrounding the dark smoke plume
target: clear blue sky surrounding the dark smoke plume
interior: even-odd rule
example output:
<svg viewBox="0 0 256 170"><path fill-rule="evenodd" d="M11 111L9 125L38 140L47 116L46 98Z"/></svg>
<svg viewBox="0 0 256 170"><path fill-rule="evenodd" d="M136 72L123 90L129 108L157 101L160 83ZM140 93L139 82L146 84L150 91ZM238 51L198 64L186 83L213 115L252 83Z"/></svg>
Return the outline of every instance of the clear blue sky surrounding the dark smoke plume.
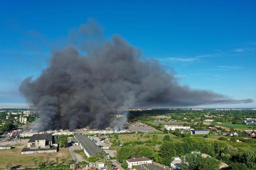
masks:
<svg viewBox="0 0 256 170"><path fill-rule="evenodd" d="M47 66L69 30L97 20L182 85L256 101L256 1L5 1L0 5L0 107L25 106L20 82ZM256 102L199 107L256 107Z"/></svg>

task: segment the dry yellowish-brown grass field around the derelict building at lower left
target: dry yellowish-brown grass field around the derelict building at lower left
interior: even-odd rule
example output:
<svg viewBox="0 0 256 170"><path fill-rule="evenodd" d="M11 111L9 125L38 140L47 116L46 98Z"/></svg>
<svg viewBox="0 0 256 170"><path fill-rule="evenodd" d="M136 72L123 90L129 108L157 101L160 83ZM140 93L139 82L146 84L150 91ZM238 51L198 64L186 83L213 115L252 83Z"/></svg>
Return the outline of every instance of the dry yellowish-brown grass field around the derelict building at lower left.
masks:
<svg viewBox="0 0 256 170"><path fill-rule="evenodd" d="M0 145L11 144L12 149L0 150L0 168L3 168L6 162L11 162L13 166L19 167L32 167L34 166L32 158L44 157L54 162L56 157L70 155L68 148L59 148L57 153L39 153L39 154L25 154L21 155L22 149L27 145L29 139L22 140L21 142L1 142Z"/></svg>

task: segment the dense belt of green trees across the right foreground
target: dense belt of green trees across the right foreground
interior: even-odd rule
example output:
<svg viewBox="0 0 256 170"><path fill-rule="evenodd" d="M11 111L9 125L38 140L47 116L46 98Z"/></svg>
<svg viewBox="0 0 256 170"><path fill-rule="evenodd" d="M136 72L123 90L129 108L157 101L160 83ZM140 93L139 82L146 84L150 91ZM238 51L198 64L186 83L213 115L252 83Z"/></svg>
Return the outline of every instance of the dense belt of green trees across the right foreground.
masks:
<svg viewBox="0 0 256 170"><path fill-rule="evenodd" d="M156 140L156 142L152 142L152 140ZM200 157L201 162L207 161L216 163L216 161L212 161L212 159L215 160L216 158L233 167L245 165L246 167L248 166L248 168L252 168L256 163L255 151L244 152L239 155L239 150L236 146L241 146L243 143L229 142L229 144L227 144L226 142L212 142L205 141L204 139L187 137L182 138L180 142L174 142L170 138L170 135L165 135L162 142L156 137L152 138L152 140L125 142L123 143L123 147L118 150L116 158L121 163L125 163L125 160L128 158L148 157L163 165L170 166L173 157L182 157L191 154L192 151L200 151L201 153L205 153L212 157L211 159L207 158L207 160ZM188 160L186 160L186 162L188 162ZM250 162L253 162L253 165L251 165ZM189 167L187 168L193 169Z"/></svg>

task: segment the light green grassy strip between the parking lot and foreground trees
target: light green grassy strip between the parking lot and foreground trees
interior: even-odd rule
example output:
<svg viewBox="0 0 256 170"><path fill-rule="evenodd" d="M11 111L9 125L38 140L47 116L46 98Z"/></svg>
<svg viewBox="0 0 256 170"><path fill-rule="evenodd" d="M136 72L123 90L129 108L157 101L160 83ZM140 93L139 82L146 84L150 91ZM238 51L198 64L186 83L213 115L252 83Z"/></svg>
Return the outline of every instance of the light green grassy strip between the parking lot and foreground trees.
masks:
<svg viewBox="0 0 256 170"><path fill-rule="evenodd" d="M119 138L121 141L127 141L127 140L131 141L131 140L138 140L138 139L140 139L140 140L148 140L148 139L152 139L152 138L153 138L153 135L157 135L158 140L163 140L163 137L164 137L165 135L169 135L170 138L171 138L172 140L174 140L174 141L180 140L179 137L177 137L177 136L175 136L175 135L172 135L172 134L150 134L150 135L149 135L149 138L146 137L147 135L148 135L148 134L145 133L145 134L142 134L142 137L141 137L139 133L136 133L136 134L128 134L128 135L118 135L118 138Z"/></svg>

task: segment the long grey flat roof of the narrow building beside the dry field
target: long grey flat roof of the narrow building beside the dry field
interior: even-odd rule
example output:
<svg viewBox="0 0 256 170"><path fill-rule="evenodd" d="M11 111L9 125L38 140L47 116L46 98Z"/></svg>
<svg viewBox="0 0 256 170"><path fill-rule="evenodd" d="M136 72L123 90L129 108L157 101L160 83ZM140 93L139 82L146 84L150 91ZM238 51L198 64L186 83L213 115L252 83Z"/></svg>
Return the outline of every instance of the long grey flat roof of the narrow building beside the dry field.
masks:
<svg viewBox="0 0 256 170"><path fill-rule="evenodd" d="M90 138L85 135L74 135L74 138L82 145L82 147L86 150L86 152L93 156L98 152L101 152L102 149L96 145Z"/></svg>

